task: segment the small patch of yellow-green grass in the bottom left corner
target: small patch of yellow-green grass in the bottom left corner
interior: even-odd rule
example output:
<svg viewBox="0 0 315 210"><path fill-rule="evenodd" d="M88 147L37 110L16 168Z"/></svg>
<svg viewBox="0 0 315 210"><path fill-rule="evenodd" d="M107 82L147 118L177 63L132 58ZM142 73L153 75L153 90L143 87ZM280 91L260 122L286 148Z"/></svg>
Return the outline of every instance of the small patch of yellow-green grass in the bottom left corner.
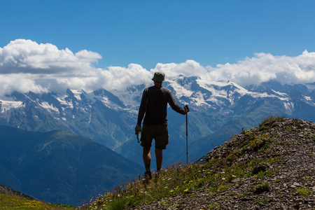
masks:
<svg viewBox="0 0 315 210"><path fill-rule="evenodd" d="M38 200L29 200L16 195L6 195L0 193L0 209L75 209L69 205L48 204Z"/></svg>

